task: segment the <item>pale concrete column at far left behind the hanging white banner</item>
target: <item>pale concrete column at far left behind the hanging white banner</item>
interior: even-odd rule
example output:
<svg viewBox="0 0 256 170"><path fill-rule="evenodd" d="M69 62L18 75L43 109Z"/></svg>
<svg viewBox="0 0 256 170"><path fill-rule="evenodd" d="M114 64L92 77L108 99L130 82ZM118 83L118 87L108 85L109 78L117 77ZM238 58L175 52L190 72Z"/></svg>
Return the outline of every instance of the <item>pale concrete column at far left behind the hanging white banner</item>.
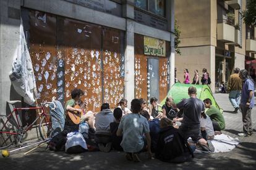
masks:
<svg viewBox="0 0 256 170"><path fill-rule="evenodd" d="M9 112L6 102L21 99L20 95L15 93L9 79L14 52L19 44L20 0L2 0L0 8L0 109L1 114L5 115Z"/></svg>

